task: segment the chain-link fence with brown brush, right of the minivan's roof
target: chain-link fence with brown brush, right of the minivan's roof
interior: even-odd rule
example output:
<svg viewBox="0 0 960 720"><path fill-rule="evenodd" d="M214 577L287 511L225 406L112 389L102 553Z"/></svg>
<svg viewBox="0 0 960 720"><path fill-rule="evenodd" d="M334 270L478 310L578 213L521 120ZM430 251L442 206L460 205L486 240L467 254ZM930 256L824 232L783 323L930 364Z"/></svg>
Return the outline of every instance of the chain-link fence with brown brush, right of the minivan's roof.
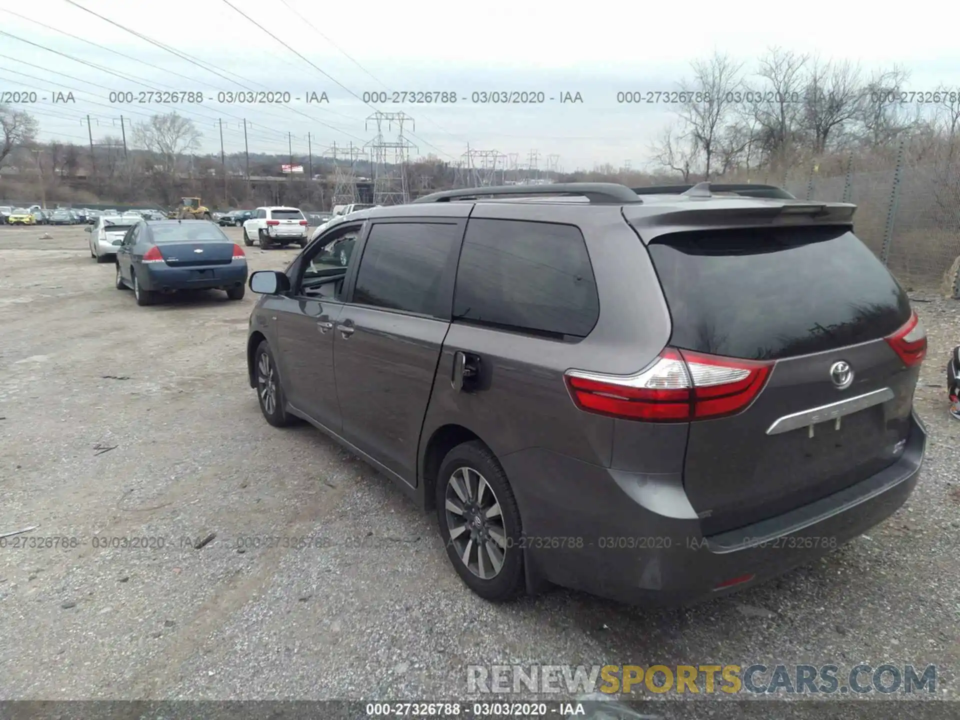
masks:
<svg viewBox="0 0 960 720"><path fill-rule="evenodd" d="M955 287L960 257L960 163L904 160L888 170L822 177L816 166L768 178L798 198L857 205L858 237L883 260L904 287L937 291Z"/></svg>

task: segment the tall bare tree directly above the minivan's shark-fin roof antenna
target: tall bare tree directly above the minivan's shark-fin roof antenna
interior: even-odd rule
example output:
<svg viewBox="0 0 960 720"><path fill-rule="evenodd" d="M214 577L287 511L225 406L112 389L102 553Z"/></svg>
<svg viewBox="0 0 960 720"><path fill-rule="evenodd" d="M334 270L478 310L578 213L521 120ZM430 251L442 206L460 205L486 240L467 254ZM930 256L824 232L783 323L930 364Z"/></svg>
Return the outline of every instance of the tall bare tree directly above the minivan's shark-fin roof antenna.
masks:
<svg viewBox="0 0 960 720"><path fill-rule="evenodd" d="M734 104L734 90L741 84L742 62L714 53L708 60L694 60L693 81L681 83L677 109L688 132L704 157L704 180L710 179L718 140Z"/></svg>

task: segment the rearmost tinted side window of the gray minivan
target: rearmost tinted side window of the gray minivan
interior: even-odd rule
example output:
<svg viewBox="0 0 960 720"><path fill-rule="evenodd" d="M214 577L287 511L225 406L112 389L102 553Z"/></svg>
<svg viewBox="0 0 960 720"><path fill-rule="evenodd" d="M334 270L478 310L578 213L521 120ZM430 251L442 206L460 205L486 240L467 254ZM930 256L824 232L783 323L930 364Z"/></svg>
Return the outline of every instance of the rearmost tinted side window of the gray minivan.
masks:
<svg viewBox="0 0 960 720"><path fill-rule="evenodd" d="M453 314L477 323L586 337L599 317L600 300L580 229L470 220Z"/></svg>

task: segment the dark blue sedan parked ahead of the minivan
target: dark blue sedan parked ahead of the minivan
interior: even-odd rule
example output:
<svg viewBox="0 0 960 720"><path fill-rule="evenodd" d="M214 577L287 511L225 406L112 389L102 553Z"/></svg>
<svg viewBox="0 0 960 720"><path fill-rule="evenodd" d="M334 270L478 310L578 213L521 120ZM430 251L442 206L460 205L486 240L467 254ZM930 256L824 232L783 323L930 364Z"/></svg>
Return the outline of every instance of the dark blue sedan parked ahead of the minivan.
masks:
<svg viewBox="0 0 960 720"><path fill-rule="evenodd" d="M243 299L247 256L208 220L144 220L114 244L117 289L132 288L138 305L178 290L218 289Z"/></svg>

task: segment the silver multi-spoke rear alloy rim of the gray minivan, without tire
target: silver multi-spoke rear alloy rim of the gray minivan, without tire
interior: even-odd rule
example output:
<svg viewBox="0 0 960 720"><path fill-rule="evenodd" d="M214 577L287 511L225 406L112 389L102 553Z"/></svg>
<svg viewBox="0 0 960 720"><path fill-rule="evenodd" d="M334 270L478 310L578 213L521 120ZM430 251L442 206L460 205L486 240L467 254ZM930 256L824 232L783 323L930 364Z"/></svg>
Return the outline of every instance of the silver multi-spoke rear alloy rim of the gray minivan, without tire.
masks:
<svg viewBox="0 0 960 720"><path fill-rule="evenodd" d="M446 481L444 507L461 562L481 580L495 578L506 558L507 530L487 479L473 468L457 468Z"/></svg>

